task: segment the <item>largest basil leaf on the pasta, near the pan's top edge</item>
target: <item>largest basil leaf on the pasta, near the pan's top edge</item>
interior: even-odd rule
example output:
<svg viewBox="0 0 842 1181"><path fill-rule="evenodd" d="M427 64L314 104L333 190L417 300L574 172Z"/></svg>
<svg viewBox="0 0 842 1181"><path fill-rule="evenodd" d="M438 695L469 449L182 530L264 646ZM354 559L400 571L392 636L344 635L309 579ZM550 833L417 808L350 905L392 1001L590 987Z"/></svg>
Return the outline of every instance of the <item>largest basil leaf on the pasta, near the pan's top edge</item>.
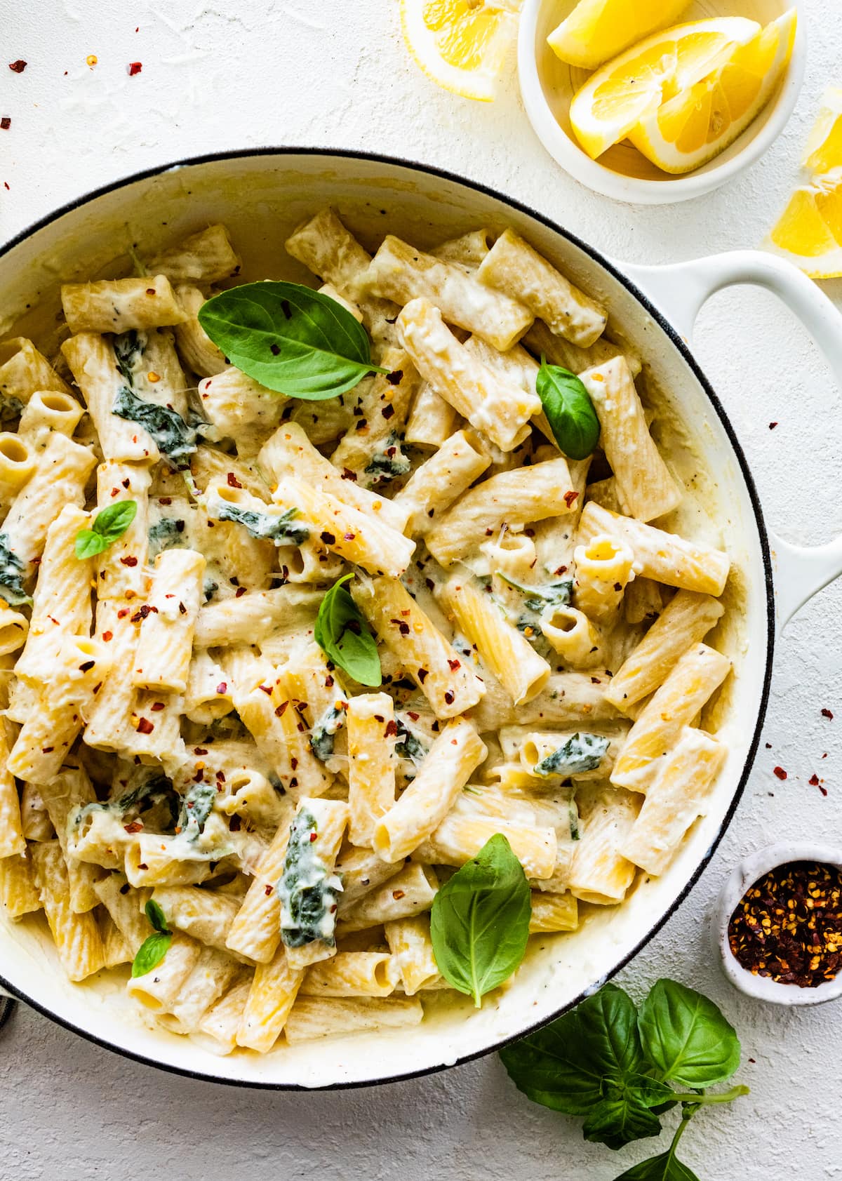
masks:
<svg viewBox="0 0 842 1181"><path fill-rule="evenodd" d="M354 317L301 283L233 287L202 305L198 322L233 365L291 398L321 402L386 372Z"/></svg>

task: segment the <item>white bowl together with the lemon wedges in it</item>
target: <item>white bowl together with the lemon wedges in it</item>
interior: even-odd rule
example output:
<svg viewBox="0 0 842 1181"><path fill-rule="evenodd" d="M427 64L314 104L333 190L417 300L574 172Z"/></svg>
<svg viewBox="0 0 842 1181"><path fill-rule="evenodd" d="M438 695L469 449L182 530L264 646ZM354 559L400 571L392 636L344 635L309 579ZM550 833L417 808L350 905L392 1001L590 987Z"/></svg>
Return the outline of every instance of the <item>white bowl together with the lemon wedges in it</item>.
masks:
<svg viewBox="0 0 842 1181"><path fill-rule="evenodd" d="M783 130L804 74L786 0L524 0L521 93L547 151L619 201L710 193Z"/></svg>

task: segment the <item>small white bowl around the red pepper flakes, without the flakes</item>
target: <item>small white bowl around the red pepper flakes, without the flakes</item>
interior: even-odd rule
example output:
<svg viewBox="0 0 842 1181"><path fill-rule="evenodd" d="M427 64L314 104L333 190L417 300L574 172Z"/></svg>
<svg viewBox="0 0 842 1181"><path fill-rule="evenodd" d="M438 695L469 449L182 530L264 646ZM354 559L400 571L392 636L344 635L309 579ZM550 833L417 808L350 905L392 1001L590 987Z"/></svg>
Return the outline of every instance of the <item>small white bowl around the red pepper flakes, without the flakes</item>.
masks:
<svg viewBox="0 0 842 1181"><path fill-rule="evenodd" d="M731 984L756 1000L769 1000L776 1005L821 1005L825 1000L836 1000L842 996L842 972L817 985L815 988L801 988L797 984L778 984L768 976L753 976L737 960L727 940L727 927L731 915L750 886L771 869L785 866L790 861L815 861L820 864L842 868L842 848L833 844L792 844L781 842L770 844L758 853L752 853L735 868L719 894L719 901L712 926L713 941L722 960L723 971Z"/></svg>

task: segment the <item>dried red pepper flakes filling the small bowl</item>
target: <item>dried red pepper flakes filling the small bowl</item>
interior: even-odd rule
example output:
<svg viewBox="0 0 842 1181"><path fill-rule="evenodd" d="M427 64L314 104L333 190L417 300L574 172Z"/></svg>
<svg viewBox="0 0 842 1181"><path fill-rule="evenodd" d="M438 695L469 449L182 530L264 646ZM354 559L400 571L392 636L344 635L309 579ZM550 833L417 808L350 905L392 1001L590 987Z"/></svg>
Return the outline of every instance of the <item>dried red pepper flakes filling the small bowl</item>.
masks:
<svg viewBox="0 0 842 1181"><path fill-rule="evenodd" d="M815 988L842 968L842 869L810 861L777 866L751 886L727 941L752 976Z"/></svg>

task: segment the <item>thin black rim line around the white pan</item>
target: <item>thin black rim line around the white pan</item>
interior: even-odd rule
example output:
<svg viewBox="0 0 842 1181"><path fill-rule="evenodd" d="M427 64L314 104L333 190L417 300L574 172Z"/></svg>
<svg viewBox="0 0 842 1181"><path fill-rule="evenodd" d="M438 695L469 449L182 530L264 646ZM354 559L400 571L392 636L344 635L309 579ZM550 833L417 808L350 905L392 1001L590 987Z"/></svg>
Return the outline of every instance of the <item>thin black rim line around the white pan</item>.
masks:
<svg viewBox="0 0 842 1181"><path fill-rule="evenodd" d="M763 520L763 510L761 508L761 502L757 496L757 489L755 488L755 481L749 469L745 455L743 454L743 449L737 439L735 430L731 426L731 422L727 415L725 413L722 403L719 402L717 394L713 391L713 387L711 386L710 381L703 373L701 368L693 358L693 354L691 353L690 348L687 347L683 338L673 328L670 321L664 318L661 312L659 312L659 309L653 304L650 302L647 296L635 286L635 283L633 283L632 280L627 275L625 275L621 270L619 270L612 262L605 259L599 250L595 250L587 242L583 242L580 237L576 237L575 234L572 234L569 230L563 229L550 217L546 217L543 214L539 213L535 209L531 209L522 201L517 201L514 197L500 193L487 184L481 184L477 181L469 181L465 177L457 176L455 172L450 172L446 169L436 168L431 164L422 164L411 159L402 159L398 156L381 156L378 155L377 152L351 151L342 148L334 149L334 148L279 146L279 148L253 148L247 150L208 152L207 155L203 156L188 156L184 157L183 159L172 161L167 164L158 164L155 168L143 169L142 171L133 172L130 176L123 177L119 181L112 181L110 184L104 184L98 189L92 189L90 193L86 193L83 196L77 197L74 201L67 202L59 209L56 209L53 213L48 214L46 217L41 217L39 221L34 222L27 229L21 230L20 234L17 234L15 237L13 237L2 248L0 248L0 259L5 257L11 250L13 250L26 239L31 237L33 234L37 234L40 229L44 229L46 226L50 226L54 221L58 221L60 217L64 217L65 214L72 213L74 209L79 209L83 205L86 205L90 202L96 201L97 197L102 197L107 193L115 193L118 189L128 188L129 185L135 184L137 181L145 181L149 180L150 177L159 176L164 172L170 171L171 169L190 168L196 164L209 164L217 161L222 162L222 161L248 159L255 156L266 156L266 157L274 156L278 157L279 159L282 159L286 156L324 156L326 159L331 158L350 159L350 161L359 159L373 164L385 164L387 167L404 168L415 172L424 172L427 176L438 177L443 181L450 181L455 184L461 184L466 189L474 189L477 193L482 193L485 196L494 197L495 200L503 202L503 204L511 205L520 213L526 214L527 216L535 218L535 221L541 222L548 229L561 235L561 237L567 239L568 242L572 242L580 250L587 254L595 263L598 263L598 266L602 267L605 270L608 272L609 275L612 275L618 282L620 282L626 288L626 291L628 291L637 299L637 301L646 309L646 312L652 317L652 319L657 321L659 327L662 328L662 331L670 338L674 347L680 353L683 360L690 367L693 376L705 391L707 399L710 400L713 410L716 411L716 415L719 418L719 422L722 423L725 433L727 435L731 449L733 450L733 454L737 457L739 470L745 482L745 488L749 494L751 508L755 514L755 524L757 527L757 533L761 542L761 553L763 557L763 579L766 592L766 664L763 676L763 686L761 689L761 699L757 709L757 722L755 724L755 732L751 737L751 745L749 748L749 753L745 759L745 765L740 774L739 782L733 794L733 798L731 800L729 809L725 816L723 817L722 824L719 826L719 830L717 831L713 841L709 846L707 852L701 857L701 861L699 862L698 867L691 875L687 885L684 887L680 894L674 899L674 901L667 907L666 912L661 915L661 918L655 924L653 924L652 927L650 927L647 933L632 948L632 951L629 951L626 955L624 955L624 958L620 960L619 964L616 964L609 972L606 972L606 974L601 977L600 980L598 980L587 991L580 993L568 1004L562 1005L556 1012L551 1013L549 1017L540 1022L535 1022L534 1024L527 1025L520 1033L513 1037L503 1038L500 1042L495 1042L494 1045L485 1046L485 1049L483 1050L476 1050L472 1053L466 1053L463 1057L456 1058L452 1063L425 1066L422 1070L406 1070L399 1075L390 1075L385 1078L374 1078L370 1081L350 1081L340 1083L328 1083L322 1087L305 1087L299 1083L275 1083L275 1082L265 1082L262 1079L224 1078L220 1075L214 1075L211 1071L189 1070L184 1066L174 1066L170 1063L159 1062L155 1058L149 1058L143 1053L136 1053L133 1050L126 1050L120 1045L116 1045L112 1042L107 1042L104 1038L100 1038L96 1033L91 1032L91 1030L83 1029L79 1025L74 1025L72 1022L67 1020L64 1017L58 1016L58 1013L52 1012L52 1010L47 1009L45 1005L28 997L21 988L18 988L15 985L6 980L0 971L0 985L7 988L14 997L25 1001L37 1012L43 1013L45 1017L48 1017L58 1025L63 1025L65 1029L71 1030L73 1033L78 1033L80 1037L86 1038L89 1042L93 1042L94 1045L100 1045L106 1050L113 1051L115 1053L120 1053L125 1058L132 1058L135 1062L141 1062L146 1066L155 1066L158 1070L165 1070L171 1075L181 1075L187 1078L198 1079L201 1082L222 1083L227 1087L247 1087L257 1090L275 1090L275 1091L352 1090L361 1087L379 1087L385 1083L407 1082L409 1079L412 1078L423 1078L426 1075L435 1075L442 1070L449 1070L451 1066L463 1065L466 1062L472 1062L476 1058L482 1058L488 1053L494 1053L497 1050L502 1050L503 1046L510 1045L513 1042L517 1042L520 1038L526 1037L528 1033L531 1033L535 1030L541 1029L543 1025L547 1025L556 1017L560 1017L568 1010L574 1009L581 1000L586 998L586 996L589 996L593 991L595 991L595 988L601 987L601 985L603 985L607 980L616 976L616 973L620 972L624 967L626 967L626 965L632 959L634 959L638 952L640 952L650 942L650 940L658 934L658 932L667 922L667 920L671 919L672 915L678 911L679 906L684 902L684 900L690 894L691 889L696 886L699 877L704 873L709 861L713 856L713 853L716 852L719 842L723 839L725 829L731 823L733 814L737 810L737 805L739 804L739 801L743 796L743 791L745 789L749 775L751 774L751 769L755 762L755 755L757 753L757 746L761 739L761 731L763 729L763 722L766 713L766 705L769 703L769 686L771 681L772 658L775 652L775 592L772 585L772 566L769 552L769 537L766 534L765 522Z"/></svg>

